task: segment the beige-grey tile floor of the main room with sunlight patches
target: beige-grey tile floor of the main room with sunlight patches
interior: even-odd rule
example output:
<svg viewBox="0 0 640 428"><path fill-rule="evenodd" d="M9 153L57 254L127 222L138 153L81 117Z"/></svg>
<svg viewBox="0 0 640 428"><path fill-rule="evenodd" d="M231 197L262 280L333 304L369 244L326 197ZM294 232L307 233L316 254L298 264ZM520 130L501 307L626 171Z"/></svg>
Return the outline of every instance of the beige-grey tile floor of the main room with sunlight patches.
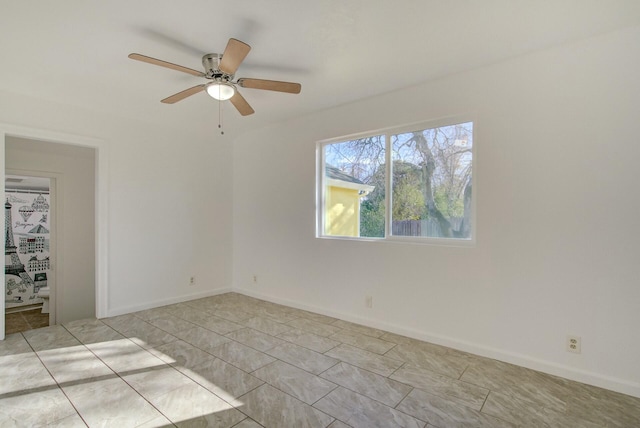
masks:
<svg viewBox="0 0 640 428"><path fill-rule="evenodd" d="M228 293L7 336L0 426L638 427L640 399Z"/></svg>

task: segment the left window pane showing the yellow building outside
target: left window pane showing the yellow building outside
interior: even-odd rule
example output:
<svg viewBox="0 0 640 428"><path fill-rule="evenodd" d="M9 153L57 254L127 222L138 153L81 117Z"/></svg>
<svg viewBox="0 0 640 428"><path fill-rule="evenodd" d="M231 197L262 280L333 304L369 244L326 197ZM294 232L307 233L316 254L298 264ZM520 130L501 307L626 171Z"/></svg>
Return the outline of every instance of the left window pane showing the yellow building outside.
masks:
<svg viewBox="0 0 640 428"><path fill-rule="evenodd" d="M384 136L327 144L323 156L324 234L383 238Z"/></svg>

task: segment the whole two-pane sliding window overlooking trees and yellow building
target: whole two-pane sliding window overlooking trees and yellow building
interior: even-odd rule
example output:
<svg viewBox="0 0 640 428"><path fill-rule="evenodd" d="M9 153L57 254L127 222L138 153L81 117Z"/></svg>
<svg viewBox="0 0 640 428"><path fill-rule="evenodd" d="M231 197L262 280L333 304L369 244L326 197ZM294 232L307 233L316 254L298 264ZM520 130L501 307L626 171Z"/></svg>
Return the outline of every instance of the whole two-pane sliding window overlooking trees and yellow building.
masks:
<svg viewBox="0 0 640 428"><path fill-rule="evenodd" d="M473 238L473 122L318 144L318 236Z"/></svg>

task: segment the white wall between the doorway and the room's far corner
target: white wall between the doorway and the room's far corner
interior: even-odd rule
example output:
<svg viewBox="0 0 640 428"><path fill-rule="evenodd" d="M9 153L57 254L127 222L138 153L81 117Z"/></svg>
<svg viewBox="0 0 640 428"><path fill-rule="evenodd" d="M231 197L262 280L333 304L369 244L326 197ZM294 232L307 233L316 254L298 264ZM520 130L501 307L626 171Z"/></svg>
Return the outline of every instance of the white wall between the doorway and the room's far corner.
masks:
<svg viewBox="0 0 640 428"><path fill-rule="evenodd" d="M158 125L0 93L0 123L99 139L108 149L107 316L231 286L230 142L211 124L192 130L170 111L166 119Z"/></svg>

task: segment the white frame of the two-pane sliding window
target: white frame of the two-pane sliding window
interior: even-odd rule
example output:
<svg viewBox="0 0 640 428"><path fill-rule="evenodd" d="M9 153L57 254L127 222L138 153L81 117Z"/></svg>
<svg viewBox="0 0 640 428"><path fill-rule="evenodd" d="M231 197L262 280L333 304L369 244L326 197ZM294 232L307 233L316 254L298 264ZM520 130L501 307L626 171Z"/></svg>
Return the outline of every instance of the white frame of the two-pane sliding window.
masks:
<svg viewBox="0 0 640 428"><path fill-rule="evenodd" d="M403 134L419 130L440 128L445 126L456 125L460 123L471 122L472 130L472 146L471 146L471 165L472 165L472 187L471 187L471 237L462 238L434 238L428 236L396 236L392 232L392 194L393 192L385 191L385 236L382 238L364 237L364 236L334 236L324 233L324 207L325 207L325 159L324 147L327 145L355 140L358 138L372 137L383 135L385 137L385 186L390 189L391 183L391 135ZM410 244L427 244L453 247L473 247L476 244L477 230L477 155L476 155L476 129L477 122L471 115L454 116L430 120L426 122L417 122L408 125L402 125L391 128L384 128L377 131L360 132L357 134L344 135L341 137L330 138L316 143L316 238L335 239L335 240L356 240L368 242L392 242L392 243L410 243ZM358 219L358 224L360 219Z"/></svg>

